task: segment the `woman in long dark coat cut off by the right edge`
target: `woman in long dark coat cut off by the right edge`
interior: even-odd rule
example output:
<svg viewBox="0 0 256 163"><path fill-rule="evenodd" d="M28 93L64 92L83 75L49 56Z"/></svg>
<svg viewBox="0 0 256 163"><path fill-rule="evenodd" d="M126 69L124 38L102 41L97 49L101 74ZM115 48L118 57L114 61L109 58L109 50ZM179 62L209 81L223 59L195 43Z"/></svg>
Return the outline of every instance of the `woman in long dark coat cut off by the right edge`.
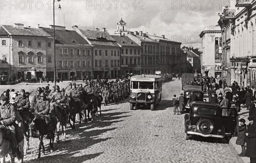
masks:
<svg viewBox="0 0 256 163"><path fill-rule="evenodd" d="M250 163L256 163L256 123L255 117L249 116L250 124L247 126L248 140L246 157L250 157Z"/></svg>

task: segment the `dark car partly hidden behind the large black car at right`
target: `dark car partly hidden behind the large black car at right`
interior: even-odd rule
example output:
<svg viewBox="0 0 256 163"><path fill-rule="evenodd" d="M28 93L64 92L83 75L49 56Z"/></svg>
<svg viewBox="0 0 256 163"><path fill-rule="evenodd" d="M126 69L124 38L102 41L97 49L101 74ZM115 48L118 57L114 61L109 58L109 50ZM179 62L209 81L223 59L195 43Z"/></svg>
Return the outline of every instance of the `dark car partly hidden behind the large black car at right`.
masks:
<svg viewBox="0 0 256 163"><path fill-rule="evenodd" d="M184 91L184 106L183 110L185 113L189 113L191 106L190 95L193 92L196 96L196 101L204 101L204 92L196 89L188 89Z"/></svg>

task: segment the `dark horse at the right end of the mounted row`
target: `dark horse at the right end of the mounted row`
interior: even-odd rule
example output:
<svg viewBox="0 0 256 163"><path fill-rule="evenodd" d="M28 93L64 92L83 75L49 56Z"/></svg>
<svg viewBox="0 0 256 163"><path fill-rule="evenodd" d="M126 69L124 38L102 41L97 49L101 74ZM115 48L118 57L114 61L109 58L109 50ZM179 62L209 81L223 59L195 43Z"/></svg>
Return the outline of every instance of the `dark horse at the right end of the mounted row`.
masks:
<svg viewBox="0 0 256 163"><path fill-rule="evenodd" d="M84 102L83 109L84 109L85 122L87 122L86 110L87 110L88 120L93 121L93 99L91 99L90 95L87 94L87 92L84 89L81 89L79 94L80 94L81 99ZM90 113L91 113L92 119L90 118Z"/></svg>

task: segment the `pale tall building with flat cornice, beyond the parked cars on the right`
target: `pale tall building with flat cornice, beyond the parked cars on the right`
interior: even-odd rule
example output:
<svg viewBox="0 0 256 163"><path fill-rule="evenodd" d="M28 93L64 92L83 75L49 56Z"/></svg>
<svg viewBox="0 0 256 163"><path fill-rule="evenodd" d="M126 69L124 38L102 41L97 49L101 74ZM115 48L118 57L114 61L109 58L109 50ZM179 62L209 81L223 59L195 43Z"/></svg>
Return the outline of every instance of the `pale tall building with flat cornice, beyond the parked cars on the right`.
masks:
<svg viewBox="0 0 256 163"><path fill-rule="evenodd" d="M221 28L206 26L201 37L201 73L209 77L222 76L224 56L221 47Z"/></svg>

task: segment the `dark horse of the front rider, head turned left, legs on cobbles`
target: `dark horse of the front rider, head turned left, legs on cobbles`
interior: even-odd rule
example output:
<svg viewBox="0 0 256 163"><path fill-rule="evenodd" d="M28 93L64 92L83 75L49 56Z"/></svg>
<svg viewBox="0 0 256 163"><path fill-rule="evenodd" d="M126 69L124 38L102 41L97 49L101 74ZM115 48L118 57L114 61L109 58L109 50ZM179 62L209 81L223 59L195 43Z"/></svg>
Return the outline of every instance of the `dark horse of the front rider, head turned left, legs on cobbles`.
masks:
<svg viewBox="0 0 256 163"><path fill-rule="evenodd" d="M51 137L50 139L50 152L53 151L53 142L54 142L54 134L55 129L57 125L57 118L54 115L51 115L51 121L52 121L52 127L53 129L51 131L48 131L47 124L45 122L45 119L43 116L35 115L35 118L32 119L32 121L29 123L29 134L31 137L38 137L40 140L39 143L39 152L38 152L38 158L41 158L41 148L43 148L43 153L45 152L44 149L44 135L50 133Z"/></svg>

